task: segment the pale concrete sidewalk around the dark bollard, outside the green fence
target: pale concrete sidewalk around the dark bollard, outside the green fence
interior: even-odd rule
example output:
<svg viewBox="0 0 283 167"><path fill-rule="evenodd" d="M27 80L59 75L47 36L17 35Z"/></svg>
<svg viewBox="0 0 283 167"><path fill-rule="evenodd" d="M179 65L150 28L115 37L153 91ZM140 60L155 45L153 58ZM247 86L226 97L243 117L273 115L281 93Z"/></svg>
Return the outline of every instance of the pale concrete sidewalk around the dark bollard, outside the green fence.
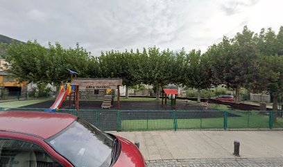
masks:
<svg viewBox="0 0 283 167"><path fill-rule="evenodd" d="M147 161L168 159L239 159L283 157L283 131L111 132L139 141ZM239 141L241 157L232 155Z"/></svg>

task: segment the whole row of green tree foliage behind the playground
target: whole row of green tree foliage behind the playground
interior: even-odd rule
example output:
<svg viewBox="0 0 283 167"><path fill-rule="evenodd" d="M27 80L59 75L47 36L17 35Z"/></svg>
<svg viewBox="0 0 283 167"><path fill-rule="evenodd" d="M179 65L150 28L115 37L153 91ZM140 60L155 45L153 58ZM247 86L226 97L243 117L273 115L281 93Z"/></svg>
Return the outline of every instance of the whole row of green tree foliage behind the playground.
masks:
<svg viewBox="0 0 283 167"><path fill-rule="evenodd" d="M69 68L79 77L122 78L124 86L150 84L154 92L160 92L160 86L176 84L201 89L203 97L211 97L227 91L209 88L225 85L236 90L237 102L240 95L248 97L241 92L243 87L252 92L268 91L275 98L283 93L283 26L277 34L271 28L254 33L244 26L241 33L233 38L224 36L204 54L196 49L171 51L154 46L142 51L105 51L94 57L78 44L65 49L56 42L46 48L36 40L2 44L1 48L5 53L1 56L9 63L7 72L19 81L36 84L58 86L68 81ZM194 93L189 90L189 95Z"/></svg>

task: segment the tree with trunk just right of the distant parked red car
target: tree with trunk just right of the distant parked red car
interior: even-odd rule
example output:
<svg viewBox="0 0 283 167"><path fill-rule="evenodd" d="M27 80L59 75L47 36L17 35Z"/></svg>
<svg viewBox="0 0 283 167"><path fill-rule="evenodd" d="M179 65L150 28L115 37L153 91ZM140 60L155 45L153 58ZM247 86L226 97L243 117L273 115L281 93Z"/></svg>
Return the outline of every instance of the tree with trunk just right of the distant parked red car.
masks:
<svg viewBox="0 0 283 167"><path fill-rule="evenodd" d="M231 40L224 37L218 45L209 47L212 56L212 71L216 77L214 84L225 84L235 90L235 102L240 102L240 88L245 86L250 74L252 61L257 58L254 33L243 27Z"/></svg>

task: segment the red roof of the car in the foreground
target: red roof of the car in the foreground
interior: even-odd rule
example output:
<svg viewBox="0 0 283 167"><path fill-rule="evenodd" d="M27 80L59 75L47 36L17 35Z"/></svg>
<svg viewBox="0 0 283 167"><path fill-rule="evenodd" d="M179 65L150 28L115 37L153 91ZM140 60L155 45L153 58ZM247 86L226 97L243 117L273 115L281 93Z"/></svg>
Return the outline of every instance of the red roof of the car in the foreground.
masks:
<svg viewBox="0 0 283 167"><path fill-rule="evenodd" d="M76 118L67 113L0 111L0 131L32 134L46 139L65 129Z"/></svg>

